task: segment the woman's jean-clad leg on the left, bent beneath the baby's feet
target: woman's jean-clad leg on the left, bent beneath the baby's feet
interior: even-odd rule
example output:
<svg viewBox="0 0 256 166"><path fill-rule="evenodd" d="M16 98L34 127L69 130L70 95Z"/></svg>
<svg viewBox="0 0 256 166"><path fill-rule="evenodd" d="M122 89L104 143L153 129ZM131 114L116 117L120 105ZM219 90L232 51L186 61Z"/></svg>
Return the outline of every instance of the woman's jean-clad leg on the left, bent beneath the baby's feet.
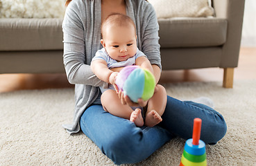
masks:
<svg viewBox="0 0 256 166"><path fill-rule="evenodd" d="M136 127L104 111L100 104L85 110L80 128L117 165L144 160L171 139L162 127Z"/></svg>

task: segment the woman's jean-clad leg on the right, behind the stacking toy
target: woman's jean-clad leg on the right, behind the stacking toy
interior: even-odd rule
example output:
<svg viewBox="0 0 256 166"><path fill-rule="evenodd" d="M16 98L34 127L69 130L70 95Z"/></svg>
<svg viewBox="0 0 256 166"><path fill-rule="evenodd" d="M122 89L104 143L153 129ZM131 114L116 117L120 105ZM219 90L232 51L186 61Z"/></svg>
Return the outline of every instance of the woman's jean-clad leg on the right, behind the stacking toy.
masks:
<svg viewBox="0 0 256 166"><path fill-rule="evenodd" d="M181 138L191 138L194 118L202 119L200 139L206 144L216 144L227 131L225 120L220 113L204 104L182 102L167 97L167 107L160 126Z"/></svg>

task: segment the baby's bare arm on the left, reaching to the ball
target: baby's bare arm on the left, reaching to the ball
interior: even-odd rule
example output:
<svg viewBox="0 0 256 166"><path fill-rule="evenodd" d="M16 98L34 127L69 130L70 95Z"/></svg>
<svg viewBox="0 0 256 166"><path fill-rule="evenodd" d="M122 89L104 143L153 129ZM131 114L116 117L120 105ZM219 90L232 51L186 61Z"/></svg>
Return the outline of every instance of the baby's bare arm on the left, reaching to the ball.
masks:
<svg viewBox="0 0 256 166"><path fill-rule="evenodd" d="M110 84L114 84L115 76L117 75L116 72L111 71L108 66L107 62L103 59L96 59L92 61L91 64L92 72L99 77L100 80L104 82L108 82Z"/></svg>

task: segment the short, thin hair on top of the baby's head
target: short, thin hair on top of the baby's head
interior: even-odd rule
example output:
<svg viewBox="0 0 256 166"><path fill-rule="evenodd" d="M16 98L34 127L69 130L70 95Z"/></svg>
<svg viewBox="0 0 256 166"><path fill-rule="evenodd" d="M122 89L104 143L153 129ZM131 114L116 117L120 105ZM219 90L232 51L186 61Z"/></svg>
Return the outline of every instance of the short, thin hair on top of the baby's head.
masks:
<svg viewBox="0 0 256 166"><path fill-rule="evenodd" d="M115 25L115 26L133 26L136 33L136 26L133 22L133 19L128 17L127 15L123 15L120 13L112 13L109 15L101 24L101 35L103 37L104 30L109 25Z"/></svg>

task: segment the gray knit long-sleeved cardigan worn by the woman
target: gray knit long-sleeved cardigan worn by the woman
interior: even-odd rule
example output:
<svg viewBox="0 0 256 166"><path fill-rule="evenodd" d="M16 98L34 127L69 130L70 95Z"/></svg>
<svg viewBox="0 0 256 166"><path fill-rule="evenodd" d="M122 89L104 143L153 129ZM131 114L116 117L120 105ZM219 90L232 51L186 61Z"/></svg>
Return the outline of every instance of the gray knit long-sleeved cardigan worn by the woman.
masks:
<svg viewBox="0 0 256 166"><path fill-rule="evenodd" d="M158 44L157 17L153 6L145 0L126 0L126 15L133 19L137 29L137 47L151 64L161 68ZM76 107L72 124L63 127L69 133L80 131L80 116L99 95L99 87L108 84L99 80L90 64L101 49L101 0L73 0L67 6L62 23L65 71L75 86Z"/></svg>

